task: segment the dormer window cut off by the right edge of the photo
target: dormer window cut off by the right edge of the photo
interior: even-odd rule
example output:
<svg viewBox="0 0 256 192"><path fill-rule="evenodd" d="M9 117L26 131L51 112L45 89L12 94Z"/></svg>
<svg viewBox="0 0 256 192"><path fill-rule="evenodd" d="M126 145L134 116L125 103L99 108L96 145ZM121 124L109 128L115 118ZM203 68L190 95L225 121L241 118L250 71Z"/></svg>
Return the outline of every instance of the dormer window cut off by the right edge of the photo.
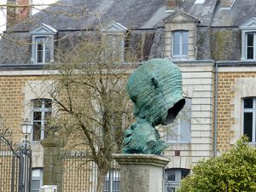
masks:
<svg viewBox="0 0 256 192"><path fill-rule="evenodd" d="M256 60L256 18L241 26L241 60Z"/></svg>

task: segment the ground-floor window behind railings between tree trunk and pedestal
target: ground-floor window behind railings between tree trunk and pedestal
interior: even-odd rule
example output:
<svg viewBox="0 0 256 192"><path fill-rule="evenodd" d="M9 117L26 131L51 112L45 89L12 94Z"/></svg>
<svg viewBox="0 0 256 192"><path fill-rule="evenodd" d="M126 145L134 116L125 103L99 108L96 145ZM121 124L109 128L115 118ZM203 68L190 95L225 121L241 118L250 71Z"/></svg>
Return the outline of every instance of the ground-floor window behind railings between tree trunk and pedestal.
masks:
<svg viewBox="0 0 256 192"><path fill-rule="evenodd" d="M110 171L105 177L103 192L119 192L119 184L120 172L116 170Z"/></svg>

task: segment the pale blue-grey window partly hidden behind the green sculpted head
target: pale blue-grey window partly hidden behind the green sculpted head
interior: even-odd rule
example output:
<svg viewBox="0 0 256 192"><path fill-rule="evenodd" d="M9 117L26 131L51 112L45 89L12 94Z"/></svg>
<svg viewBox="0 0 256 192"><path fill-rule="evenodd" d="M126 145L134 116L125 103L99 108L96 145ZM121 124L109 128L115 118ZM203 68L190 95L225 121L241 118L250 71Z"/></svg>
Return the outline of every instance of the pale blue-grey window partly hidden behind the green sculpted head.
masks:
<svg viewBox="0 0 256 192"><path fill-rule="evenodd" d="M168 143L191 142L191 99L186 98L186 103L177 118L169 125L166 140Z"/></svg>

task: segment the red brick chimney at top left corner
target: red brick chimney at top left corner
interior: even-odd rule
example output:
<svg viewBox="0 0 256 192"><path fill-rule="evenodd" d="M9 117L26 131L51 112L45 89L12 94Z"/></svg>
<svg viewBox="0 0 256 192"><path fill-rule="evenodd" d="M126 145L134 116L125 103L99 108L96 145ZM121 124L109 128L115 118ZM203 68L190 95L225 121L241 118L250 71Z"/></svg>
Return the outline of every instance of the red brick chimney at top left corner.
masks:
<svg viewBox="0 0 256 192"><path fill-rule="evenodd" d="M30 15L30 0L7 0L6 28L15 26Z"/></svg>

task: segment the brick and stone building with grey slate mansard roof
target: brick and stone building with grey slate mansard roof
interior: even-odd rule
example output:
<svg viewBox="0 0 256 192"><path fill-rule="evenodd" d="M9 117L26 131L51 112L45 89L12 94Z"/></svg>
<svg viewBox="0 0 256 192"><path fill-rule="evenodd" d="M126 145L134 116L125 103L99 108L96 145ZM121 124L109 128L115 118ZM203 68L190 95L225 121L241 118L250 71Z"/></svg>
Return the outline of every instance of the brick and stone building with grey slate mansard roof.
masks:
<svg viewBox="0 0 256 192"><path fill-rule="evenodd" d="M94 30L115 42L124 65L129 49L139 61L165 58L182 71L185 108L172 131L161 131L170 143L164 152L171 160L166 167L170 189L199 160L228 151L241 136L256 143L253 0L61 0L45 10L7 29L0 42L0 113L16 143L22 120L34 124L38 177L44 166L44 118L54 108L42 84L44 65Z"/></svg>

